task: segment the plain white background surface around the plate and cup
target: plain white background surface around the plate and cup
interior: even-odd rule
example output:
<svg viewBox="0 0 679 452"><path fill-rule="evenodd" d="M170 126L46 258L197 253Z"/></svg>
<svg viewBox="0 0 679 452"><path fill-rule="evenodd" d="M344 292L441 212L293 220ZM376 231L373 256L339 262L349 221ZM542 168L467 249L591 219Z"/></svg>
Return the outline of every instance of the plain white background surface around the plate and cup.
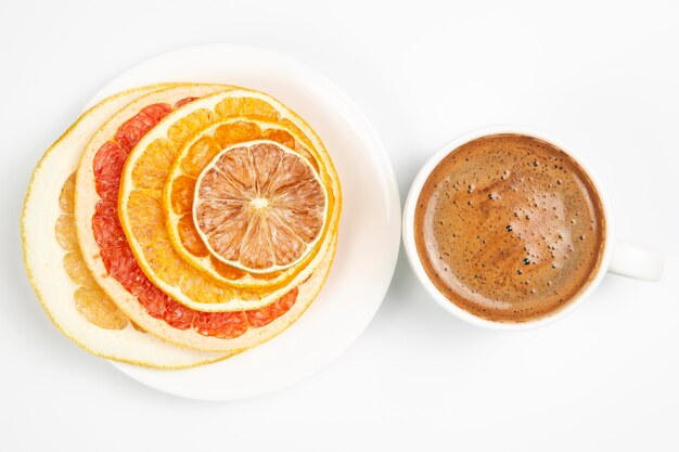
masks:
<svg viewBox="0 0 679 452"><path fill-rule="evenodd" d="M440 3L0 0L1 449L679 448L679 4ZM598 169L618 235L665 251L665 279L607 276L573 315L512 334L446 314L401 256L366 334L307 382L238 403L134 383L43 314L21 263L21 204L99 88L209 41L282 51L337 83L384 140L402 195L467 129L560 137Z"/></svg>

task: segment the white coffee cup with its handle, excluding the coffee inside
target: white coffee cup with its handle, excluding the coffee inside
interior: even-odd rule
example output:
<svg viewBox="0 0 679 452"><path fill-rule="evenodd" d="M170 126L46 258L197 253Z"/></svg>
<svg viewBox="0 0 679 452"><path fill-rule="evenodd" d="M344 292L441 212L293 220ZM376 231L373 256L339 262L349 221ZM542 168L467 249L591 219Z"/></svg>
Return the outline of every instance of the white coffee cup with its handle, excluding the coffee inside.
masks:
<svg viewBox="0 0 679 452"><path fill-rule="evenodd" d="M564 307L560 310L546 317L525 322L495 322L474 315L471 312L458 307L434 285L434 283L427 275L424 266L422 264L422 261L420 260L418 248L415 246L415 206L418 204L420 193L422 192L422 188L424 186L424 183L426 182L432 171L446 156L454 152L454 150L457 150L461 145L477 138L498 133L514 133L534 137L553 144L554 146L573 157L585 169L585 171L593 182L594 188L597 189L597 192L601 197L603 215L605 217L606 231L603 244L603 257L595 275L593 275L593 277L590 277L587 286L566 305L564 305ZM574 153L573 147L564 144L562 141L556 140L553 137L546 135L545 133L531 130L529 128L517 126L492 126L473 130L456 138L454 140L446 144L422 166L422 168L418 172L418 176L415 176L415 179L410 186L410 191L408 192L408 198L406 199L406 206L403 209L403 244L406 247L406 253L408 255L408 260L410 261L410 266L422 285L426 288L430 295L449 313L473 325L485 326L494 330L531 330L563 319L564 317L573 312L577 307L579 307L582 301L589 298L592 292L601 283L601 280L603 279L606 271L633 277L637 280L658 281L663 273L663 256L652 248L632 245L627 242L617 242L615 240L614 232L615 228L614 219L611 215L611 203L607 199L606 192L601 185L599 178L597 178L597 175L592 171L591 166L589 166L587 162L585 162L580 156Z"/></svg>

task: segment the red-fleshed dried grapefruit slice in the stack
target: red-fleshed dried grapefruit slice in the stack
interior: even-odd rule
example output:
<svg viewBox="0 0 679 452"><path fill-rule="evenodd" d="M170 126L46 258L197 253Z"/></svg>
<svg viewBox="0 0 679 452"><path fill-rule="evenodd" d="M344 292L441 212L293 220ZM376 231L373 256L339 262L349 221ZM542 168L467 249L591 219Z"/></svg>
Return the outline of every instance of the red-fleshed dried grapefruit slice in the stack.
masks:
<svg viewBox="0 0 679 452"><path fill-rule="evenodd" d="M311 302L322 285L321 280L325 277L323 274L326 274L326 271L319 273L323 275L322 277L315 275L297 287L289 287L279 299L266 307L236 312L192 310L171 299L145 277L134 261L117 221L117 210L112 208L110 203L111 199L117 198L115 181L119 180L121 171L121 165L115 164L112 156L118 155L119 143L127 143L127 147L132 147L139 140L141 137L139 127L132 126L142 125L146 129L151 128L162 118L162 114L157 112L169 109L158 102L175 102L177 98L188 94L191 95L183 99L193 99L192 95L196 93L195 87L190 90L181 87L139 98L120 109L94 134L80 159L80 168L87 171L87 167L82 167L82 162L87 162L88 166L97 169L93 171L91 184L98 191L98 195L101 193L105 197L99 201L97 197L91 199L97 201L92 222L89 224L90 229L84 229L84 237L78 238L84 250L94 253L91 259L87 259L87 263L93 266L95 279L101 281L102 287L112 296L116 306L141 328L177 345L225 351L230 356L273 337L292 323L302 313L303 308ZM176 102L177 104L184 105L185 102L180 100ZM114 138L105 141L111 131L114 132ZM99 151L93 152L97 146ZM76 184L76 196L80 195L77 203L80 207L76 208L80 210L78 221L80 225L87 224L87 221L81 221L82 218L87 219L82 217L82 205L87 205L84 203L88 199L82 193L91 195L91 190L90 183L79 188ZM87 243L90 240L93 240L94 246L99 248L90 249ZM95 253L98 249L99 255ZM328 254L328 268L331 258L332 254Z"/></svg>

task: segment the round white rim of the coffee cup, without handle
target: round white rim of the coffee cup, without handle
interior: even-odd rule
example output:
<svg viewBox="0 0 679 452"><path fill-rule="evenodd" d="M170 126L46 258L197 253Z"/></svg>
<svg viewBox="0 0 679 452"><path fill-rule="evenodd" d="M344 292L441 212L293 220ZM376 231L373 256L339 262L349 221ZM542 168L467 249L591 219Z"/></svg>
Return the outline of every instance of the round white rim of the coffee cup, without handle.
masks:
<svg viewBox="0 0 679 452"><path fill-rule="evenodd" d="M432 282L428 274L426 273L422 261L420 260L420 256L418 254L418 249L415 246L414 238L414 211L415 206L418 204L418 198L420 197L420 193L426 182L427 178L432 173L432 171L436 168L436 166L451 152L460 147L461 145L487 135L499 134L499 133L515 133L523 134L533 138L537 138L539 140L543 140L550 144L553 144L561 151L568 154L580 167L585 170L587 176L592 181L597 193L601 199L602 211L605 221L605 235L604 235L604 244L603 244L603 253L601 257L600 266L597 270L597 274L594 277L591 277L587 283L586 287L579 292L571 301L568 301L563 308L554 311L547 317L542 317L535 320L528 320L525 322L497 322L487 319L483 319L481 317L474 315L471 312L460 308L454 302L449 300ZM600 179L597 177L595 172L592 171L591 166L579 155L577 152L573 151L573 146L565 144L563 141L555 139L551 134L537 131L529 127L524 126L513 126L513 125L496 125L496 126L487 126L477 129L473 129L465 133L458 135L452 139L444 146L441 146L436 153L434 153L425 163L422 165L420 170L418 171L415 178L413 179L410 190L408 191L408 196L406 198L406 203L403 205L403 223L402 223L402 238L403 246L406 248L406 255L408 256L408 261L410 262L410 268L420 280L420 283L427 290L430 296L436 300L436 302L444 308L448 313L457 317L458 319L470 323L472 325L482 326L490 330L499 330L499 331L527 331L534 330L541 326L549 325L554 323L564 317L568 315L573 311L575 311L582 301L597 288L597 286L601 283L606 270L608 268L611 261L611 254L613 249L613 222L611 218L611 203L608 202L607 194L601 184Z"/></svg>

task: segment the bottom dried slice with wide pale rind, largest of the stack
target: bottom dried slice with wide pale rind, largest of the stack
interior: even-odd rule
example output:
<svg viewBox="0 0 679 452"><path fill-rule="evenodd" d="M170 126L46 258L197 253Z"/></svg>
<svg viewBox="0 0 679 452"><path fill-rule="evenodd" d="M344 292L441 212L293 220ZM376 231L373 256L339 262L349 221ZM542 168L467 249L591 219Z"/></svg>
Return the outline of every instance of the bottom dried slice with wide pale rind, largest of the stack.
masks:
<svg viewBox="0 0 679 452"><path fill-rule="evenodd" d="M76 241L73 173L88 141L111 115L133 99L168 86L126 91L82 114L38 163L22 214L28 277L59 330L99 357L158 369L198 365L231 353L177 347L143 333L102 292Z"/></svg>

